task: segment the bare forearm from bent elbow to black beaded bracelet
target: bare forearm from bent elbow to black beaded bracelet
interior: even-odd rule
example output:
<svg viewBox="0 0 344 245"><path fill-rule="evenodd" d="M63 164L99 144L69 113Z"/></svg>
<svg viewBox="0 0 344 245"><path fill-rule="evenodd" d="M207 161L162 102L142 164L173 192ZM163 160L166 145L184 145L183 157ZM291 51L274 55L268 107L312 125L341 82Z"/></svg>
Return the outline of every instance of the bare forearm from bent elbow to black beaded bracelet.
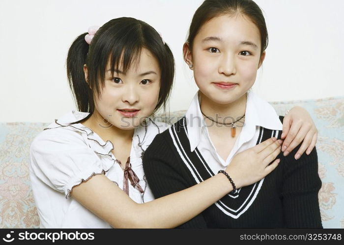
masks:
<svg viewBox="0 0 344 245"><path fill-rule="evenodd" d="M183 191L138 204L135 227L173 228L191 220L204 209L232 191L224 174L215 176ZM126 227L129 228L129 227Z"/></svg>

